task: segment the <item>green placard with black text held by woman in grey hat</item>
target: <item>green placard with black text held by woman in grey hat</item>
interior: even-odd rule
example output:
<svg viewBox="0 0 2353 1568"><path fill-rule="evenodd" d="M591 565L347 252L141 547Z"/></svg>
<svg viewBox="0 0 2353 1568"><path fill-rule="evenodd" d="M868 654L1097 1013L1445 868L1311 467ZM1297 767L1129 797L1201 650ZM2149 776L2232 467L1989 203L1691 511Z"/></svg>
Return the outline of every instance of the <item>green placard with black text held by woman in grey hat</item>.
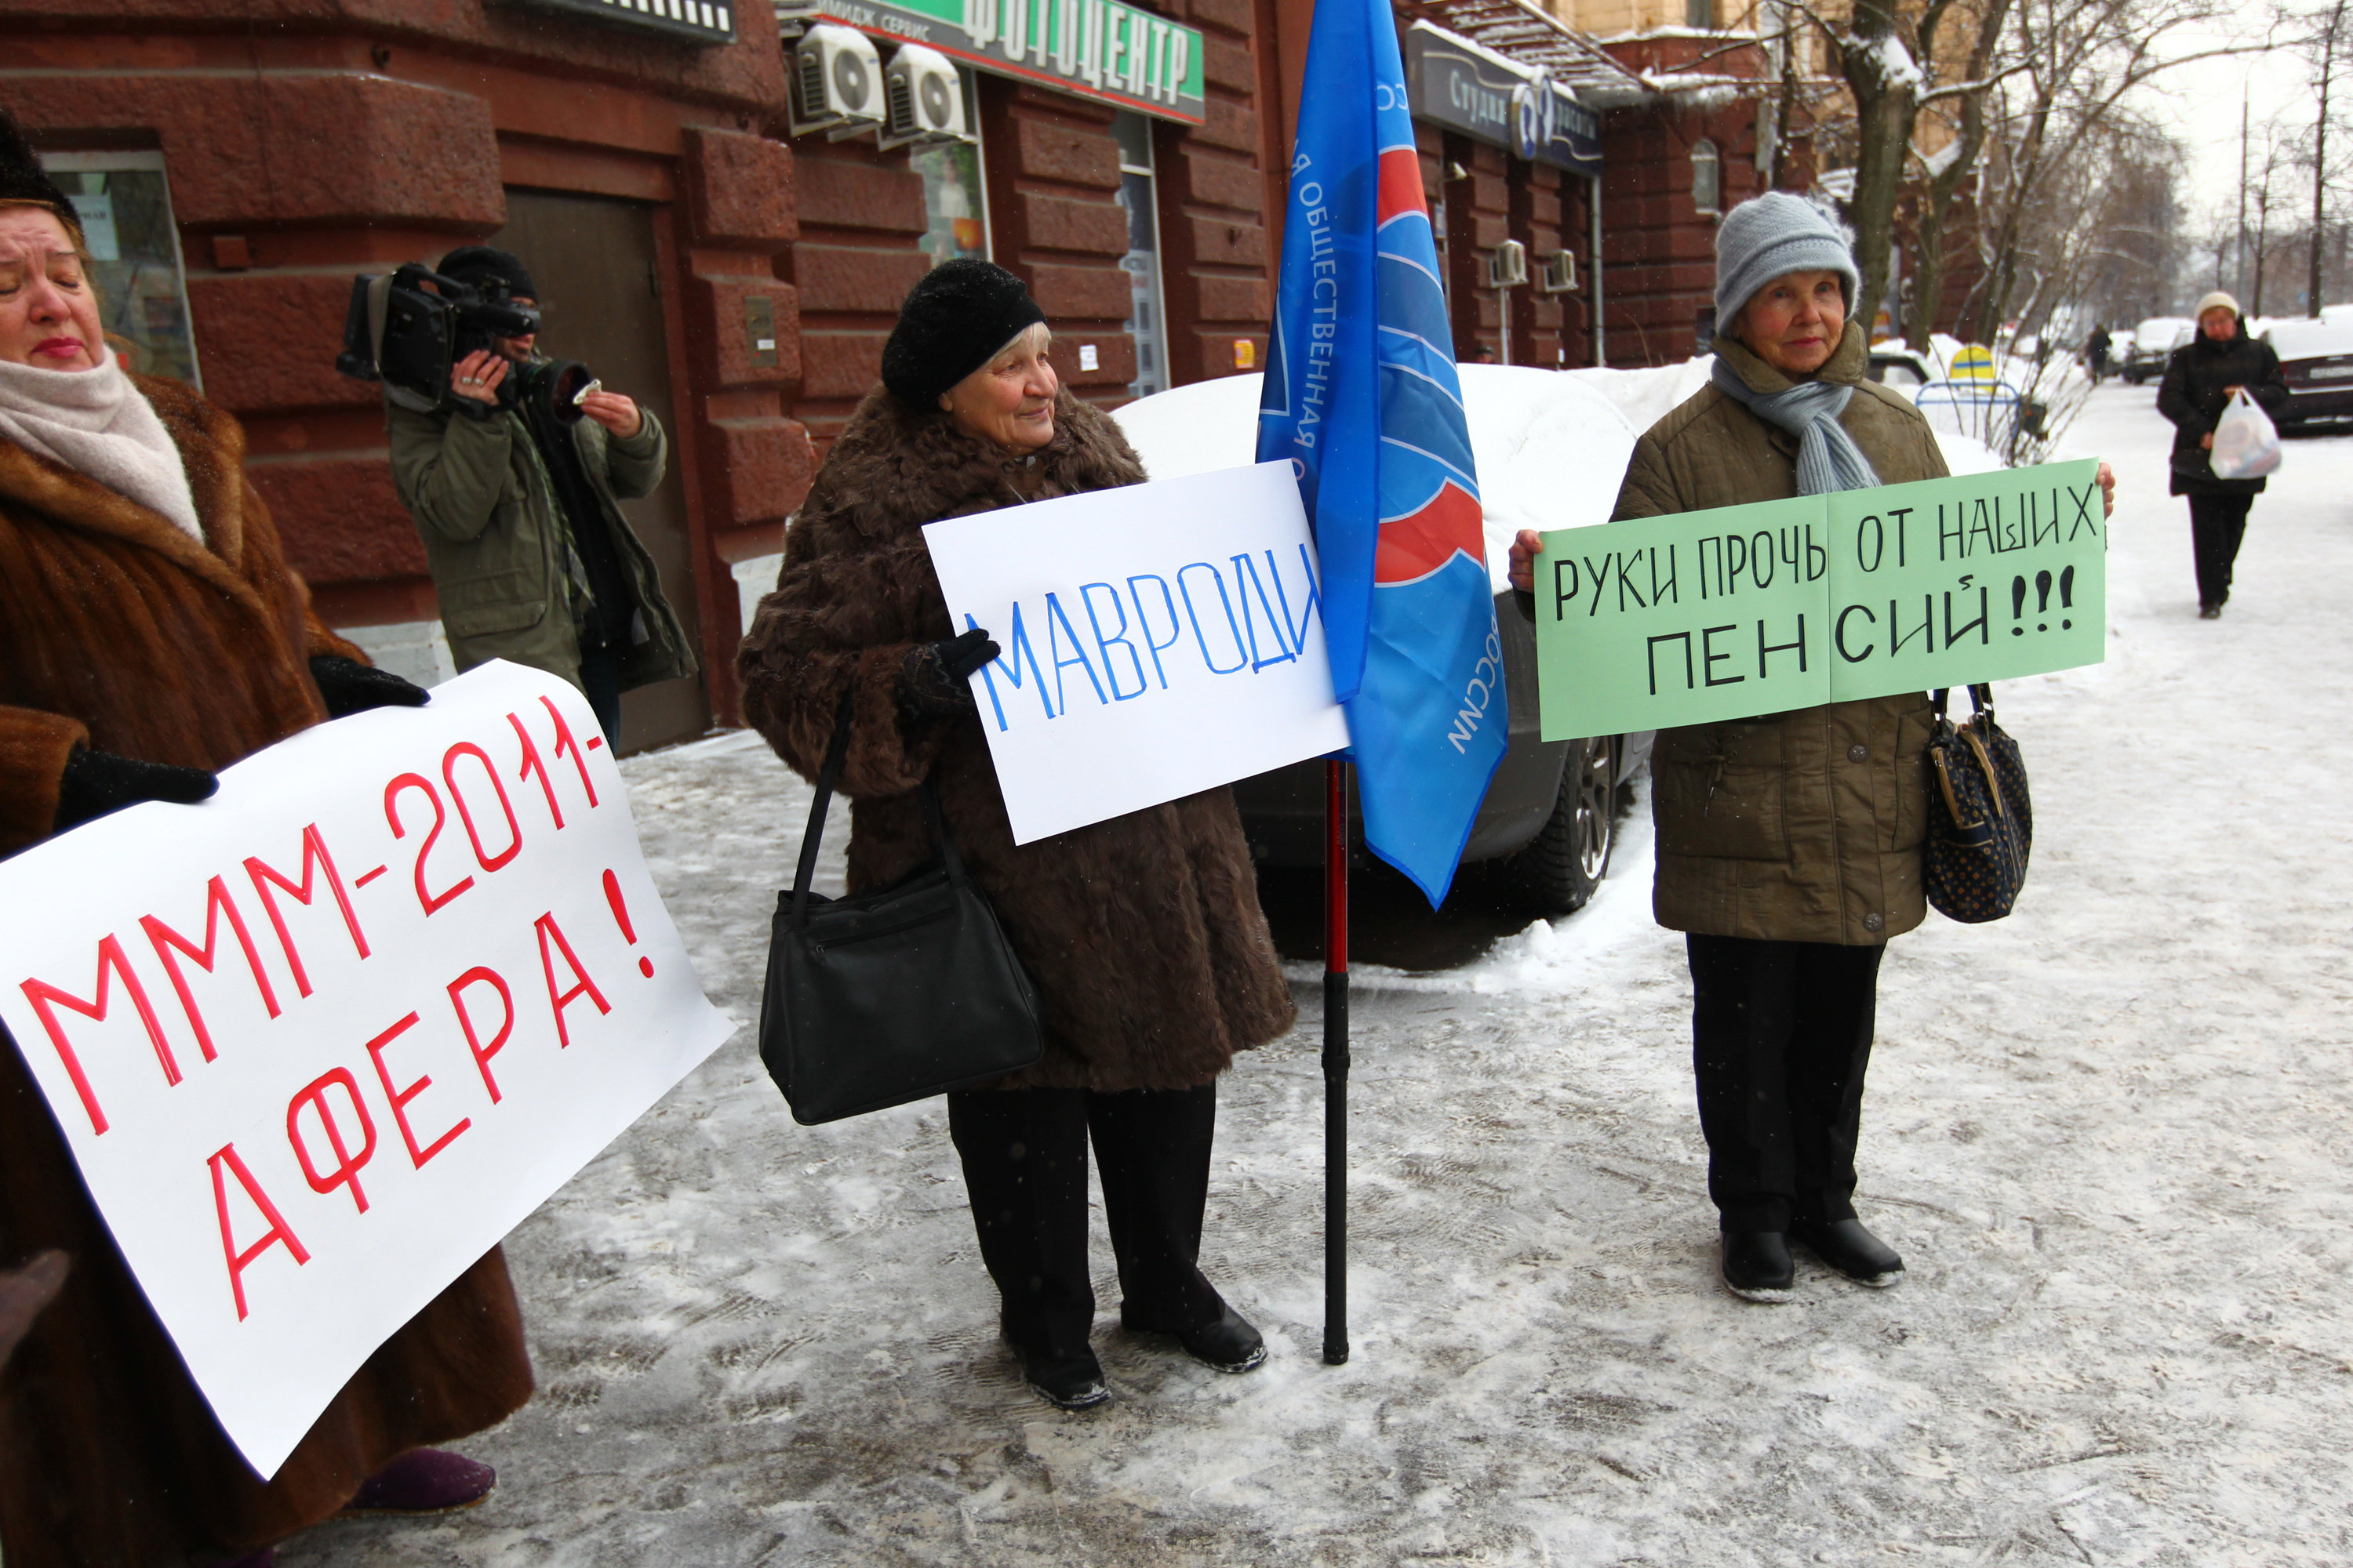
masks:
<svg viewBox="0 0 2353 1568"><path fill-rule="evenodd" d="M1746 719L2106 658L2099 463L1544 536L1544 738Z"/></svg>

